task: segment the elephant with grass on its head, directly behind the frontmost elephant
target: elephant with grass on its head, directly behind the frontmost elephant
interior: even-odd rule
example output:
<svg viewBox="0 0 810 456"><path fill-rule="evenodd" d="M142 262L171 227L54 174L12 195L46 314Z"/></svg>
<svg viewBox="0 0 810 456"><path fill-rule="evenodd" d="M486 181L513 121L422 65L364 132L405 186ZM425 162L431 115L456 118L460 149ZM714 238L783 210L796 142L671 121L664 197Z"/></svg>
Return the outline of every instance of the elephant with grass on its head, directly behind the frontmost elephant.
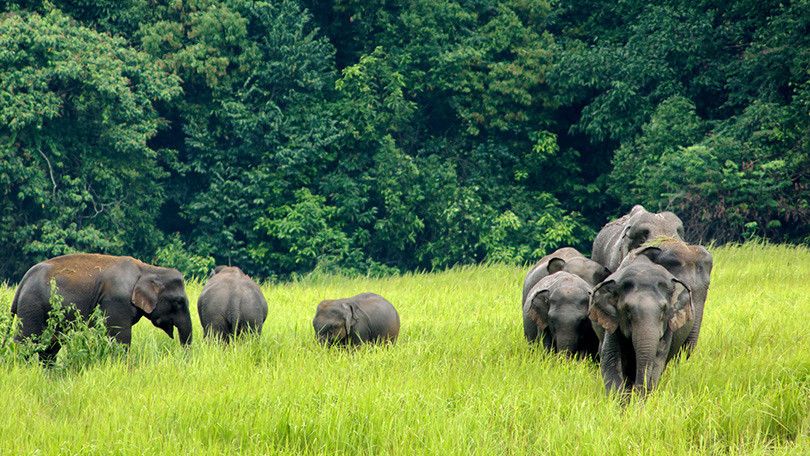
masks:
<svg viewBox="0 0 810 456"><path fill-rule="evenodd" d="M689 245L677 239L665 239L656 246L643 246L628 254L622 264L632 262L643 255L653 263L663 266L673 276L685 283L692 292L692 303L695 306L695 322L686 339L685 349L691 353L697 345L700 325L703 322L703 308L709 294L709 283L712 273L712 254L703 246ZM620 266L621 268L621 266Z"/></svg>

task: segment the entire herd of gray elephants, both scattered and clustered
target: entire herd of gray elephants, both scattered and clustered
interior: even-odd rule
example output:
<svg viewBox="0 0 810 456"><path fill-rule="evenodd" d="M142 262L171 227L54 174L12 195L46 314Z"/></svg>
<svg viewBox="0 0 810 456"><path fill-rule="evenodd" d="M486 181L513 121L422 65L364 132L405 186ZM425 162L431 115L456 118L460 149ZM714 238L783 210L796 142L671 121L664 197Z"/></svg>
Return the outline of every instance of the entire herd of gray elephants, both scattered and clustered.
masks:
<svg viewBox="0 0 810 456"><path fill-rule="evenodd" d="M608 392L649 392L670 359L695 347L711 269L711 254L683 240L675 214L635 206L602 228L592 259L565 247L534 265L523 283L524 334L548 350L598 359ZM11 306L21 322L17 340L45 329L52 281L83 318L100 307L110 336L123 344L141 317L191 342L179 271L100 254L60 256L28 270ZM197 308L206 337L260 333L267 318L259 286L233 266L212 271ZM322 301L312 323L329 345L394 342L400 327L394 306L373 293ZM52 361L59 348L52 341L40 358Z"/></svg>

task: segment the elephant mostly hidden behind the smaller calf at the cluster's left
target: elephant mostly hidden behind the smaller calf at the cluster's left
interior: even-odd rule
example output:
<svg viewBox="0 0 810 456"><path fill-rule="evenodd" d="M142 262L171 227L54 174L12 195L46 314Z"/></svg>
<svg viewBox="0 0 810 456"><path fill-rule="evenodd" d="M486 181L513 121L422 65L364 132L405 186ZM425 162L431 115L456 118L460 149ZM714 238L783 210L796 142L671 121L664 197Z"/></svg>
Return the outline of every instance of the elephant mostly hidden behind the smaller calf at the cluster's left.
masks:
<svg viewBox="0 0 810 456"><path fill-rule="evenodd" d="M537 284L543 277L549 276L559 271L570 272L588 282L591 287L605 280L610 275L601 264L585 258L577 249L563 247L557 251L540 259L523 279L523 297L521 305L526 302L529 290Z"/></svg>

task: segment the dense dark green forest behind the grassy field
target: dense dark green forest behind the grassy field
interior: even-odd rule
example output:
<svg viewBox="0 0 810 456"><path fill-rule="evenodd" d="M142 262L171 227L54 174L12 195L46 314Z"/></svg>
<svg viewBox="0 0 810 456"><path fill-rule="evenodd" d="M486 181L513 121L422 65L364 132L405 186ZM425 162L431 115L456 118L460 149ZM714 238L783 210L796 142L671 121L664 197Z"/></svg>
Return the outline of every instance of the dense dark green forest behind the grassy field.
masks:
<svg viewBox="0 0 810 456"><path fill-rule="evenodd" d="M0 278L264 278L810 240L810 1L0 3Z"/></svg>

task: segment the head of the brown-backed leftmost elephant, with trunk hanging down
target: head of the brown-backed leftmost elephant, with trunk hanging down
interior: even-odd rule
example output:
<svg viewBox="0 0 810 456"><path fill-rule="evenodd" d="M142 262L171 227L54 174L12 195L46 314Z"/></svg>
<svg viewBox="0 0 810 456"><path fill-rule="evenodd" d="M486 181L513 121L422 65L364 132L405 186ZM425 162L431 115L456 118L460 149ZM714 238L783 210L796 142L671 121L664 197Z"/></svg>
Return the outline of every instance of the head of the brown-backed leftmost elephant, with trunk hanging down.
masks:
<svg viewBox="0 0 810 456"><path fill-rule="evenodd" d="M140 264L140 276L132 290L132 305L140 309L153 325L180 342L191 343L191 314L188 309L183 275L177 269Z"/></svg>

